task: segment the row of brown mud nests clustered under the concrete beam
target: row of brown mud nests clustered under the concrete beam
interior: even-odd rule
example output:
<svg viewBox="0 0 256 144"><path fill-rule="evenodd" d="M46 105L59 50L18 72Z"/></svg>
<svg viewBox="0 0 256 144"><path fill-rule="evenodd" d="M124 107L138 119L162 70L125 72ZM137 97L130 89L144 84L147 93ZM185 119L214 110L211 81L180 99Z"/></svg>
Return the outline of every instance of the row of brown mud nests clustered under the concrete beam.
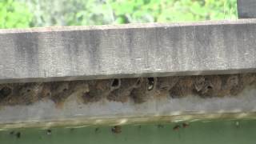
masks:
<svg viewBox="0 0 256 144"><path fill-rule="evenodd" d="M60 104L70 95L81 98L84 103L102 98L142 103L158 97L223 97L238 95L246 86L256 86L256 74L12 83L0 85L0 105L30 105L44 98Z"/></svg>

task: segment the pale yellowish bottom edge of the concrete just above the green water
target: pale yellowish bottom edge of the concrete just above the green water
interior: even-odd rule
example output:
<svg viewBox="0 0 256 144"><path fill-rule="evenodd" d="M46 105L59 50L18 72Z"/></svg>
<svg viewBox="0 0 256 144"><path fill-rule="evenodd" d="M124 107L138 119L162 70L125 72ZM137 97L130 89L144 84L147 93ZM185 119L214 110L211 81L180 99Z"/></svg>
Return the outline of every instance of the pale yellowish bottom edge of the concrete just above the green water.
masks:
<svg viewBox="0 0 256 144"><path fill-rule="evenodd" d="M85 126L122 126L128 124L146 124L153 122L209 122L209 121L238 121L256 119L256 112L239 113L213 113L213 114L182 114L170 116L146 116L131 118L74 118L66 120L56 120L49 122L15 122L2 123L0 130L10 130L18 128L40 128L48 129L50 127L79 128Z"/></svg>

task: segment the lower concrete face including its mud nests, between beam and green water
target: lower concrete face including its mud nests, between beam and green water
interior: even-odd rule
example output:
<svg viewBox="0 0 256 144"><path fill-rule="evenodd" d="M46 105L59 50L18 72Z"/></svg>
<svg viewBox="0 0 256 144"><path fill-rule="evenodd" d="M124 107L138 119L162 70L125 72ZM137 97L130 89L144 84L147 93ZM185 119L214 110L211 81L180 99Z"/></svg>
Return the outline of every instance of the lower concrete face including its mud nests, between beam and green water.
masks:
<svg viewBox="0 0 256 144"><path fill-rule="evenodd" d="M0 130L256 118L256 75L0 85Z"/></svg>

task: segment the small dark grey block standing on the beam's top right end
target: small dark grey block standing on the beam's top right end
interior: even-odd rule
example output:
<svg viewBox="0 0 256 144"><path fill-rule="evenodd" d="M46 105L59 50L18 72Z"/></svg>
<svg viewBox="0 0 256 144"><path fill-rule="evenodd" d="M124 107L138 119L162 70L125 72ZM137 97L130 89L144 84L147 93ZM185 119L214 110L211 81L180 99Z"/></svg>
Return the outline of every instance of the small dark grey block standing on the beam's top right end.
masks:
<svg viewBox="0 0 256 144"><path fill-rule="evenodd" d="M255 0L238 0L238 18L256 18Z"/></svg>

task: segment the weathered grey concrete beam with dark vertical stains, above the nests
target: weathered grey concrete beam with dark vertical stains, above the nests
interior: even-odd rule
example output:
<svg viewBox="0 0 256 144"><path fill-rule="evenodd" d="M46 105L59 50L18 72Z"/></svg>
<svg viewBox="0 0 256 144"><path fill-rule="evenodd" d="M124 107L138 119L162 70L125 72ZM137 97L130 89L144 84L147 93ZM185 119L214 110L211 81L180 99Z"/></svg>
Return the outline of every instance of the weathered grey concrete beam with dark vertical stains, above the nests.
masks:
<svg viewBox="0 0 256 144"><path fill-rule="evenodd" d="M0 82L256 70L256 20L0 30Z"/></svg>

